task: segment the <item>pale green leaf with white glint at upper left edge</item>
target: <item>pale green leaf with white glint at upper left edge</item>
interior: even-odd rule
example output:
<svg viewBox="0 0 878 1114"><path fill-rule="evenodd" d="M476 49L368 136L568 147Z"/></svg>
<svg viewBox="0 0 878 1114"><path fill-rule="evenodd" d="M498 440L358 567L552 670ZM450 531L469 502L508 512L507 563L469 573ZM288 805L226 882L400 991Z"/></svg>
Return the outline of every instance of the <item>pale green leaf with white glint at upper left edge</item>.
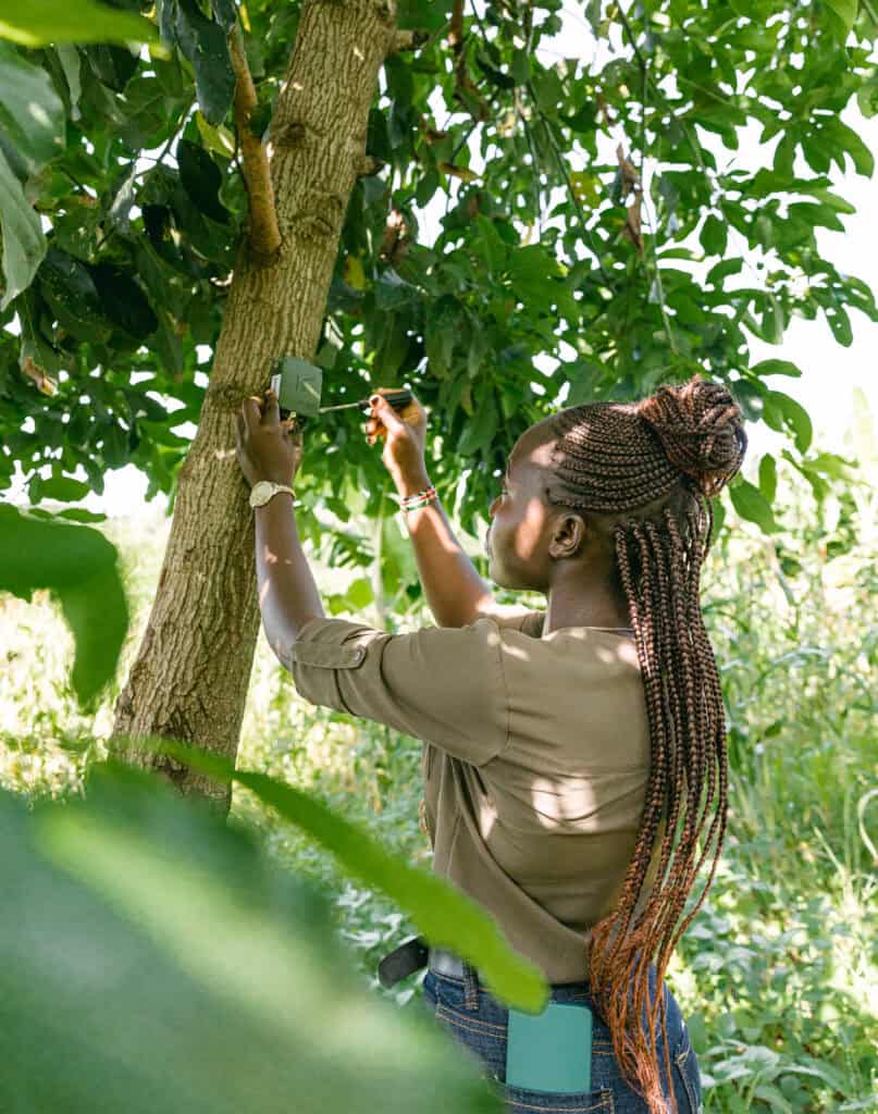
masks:
<svg viewBox="0 0 878 1114"><path fill-rule="evenodd" d="M49 75L0 42L0 127L33 174L64 150L65 108Z"/></svg>

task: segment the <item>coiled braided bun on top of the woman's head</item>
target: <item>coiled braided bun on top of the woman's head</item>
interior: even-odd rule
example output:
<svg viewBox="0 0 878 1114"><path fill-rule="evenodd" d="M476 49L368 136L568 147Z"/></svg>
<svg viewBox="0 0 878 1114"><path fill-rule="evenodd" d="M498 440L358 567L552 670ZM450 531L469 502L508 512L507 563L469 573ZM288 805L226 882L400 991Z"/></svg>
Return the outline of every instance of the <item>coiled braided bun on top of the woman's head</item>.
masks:
<svg viewBox="0 0 878 1114"><path fill-rule="evenodd" d="M742 414L728 389L694 375L682 387L660 387L637 403L671 463L691 476L699 490L719 495L744 459Z"/></svg>

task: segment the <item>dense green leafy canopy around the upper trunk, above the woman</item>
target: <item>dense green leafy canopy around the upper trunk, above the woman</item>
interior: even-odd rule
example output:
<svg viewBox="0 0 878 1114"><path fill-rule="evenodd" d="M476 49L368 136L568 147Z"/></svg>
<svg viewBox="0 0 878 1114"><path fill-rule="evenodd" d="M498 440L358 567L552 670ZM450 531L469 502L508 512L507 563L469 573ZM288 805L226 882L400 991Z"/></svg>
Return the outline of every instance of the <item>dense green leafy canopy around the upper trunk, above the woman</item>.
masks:
<svg viewBox="0 0 878 1114"><path fill-rule="evenodd" d="M140 7L119 0L117 14L154 39ZM61 10L43 0L12 31L0 21L18 43L0 43L0 485L19 461L38 501L50 462L53 477L81 466L100 491L107 469L131 461L150 495L173 494L188 446L177 427L198 419L246 222L235 7L159 0L162 46L139 50L75 45L88 13ZM262 133L299 4L255 0L241 16ZM548 409L701 369L789 434L820 494L832 461L809 456L808 414L773 383L799 371L753 364L749 338L780 343L798 313L849 344L850 311L876 316L868 287L814 236L843 231L852 211L830 188L832 166L872 173L842 120L852 98L867 115L878 106L870 6L662 0L626 12L593 0L581 18L593 58L550 63L537 48L562 26L559 0L404 0L399 23L423 33L388 57L370 113L373 173L350 199L315 354L326 401L411 384L441 437L440 490L471 468L456 509L472 529L513 441ZM759 165L729 158L744 129L765 145ZM442 201L427 243L425 213ZM553 375L535 365L559 352ZM377 516L387 483L359 421L342 412L310 432L303 490L342 524L354 489ZM769 460L758 487L741 478L731 491L767 530L773 472ZM341 530L333 544L340 560L369 559Z"/></svg>

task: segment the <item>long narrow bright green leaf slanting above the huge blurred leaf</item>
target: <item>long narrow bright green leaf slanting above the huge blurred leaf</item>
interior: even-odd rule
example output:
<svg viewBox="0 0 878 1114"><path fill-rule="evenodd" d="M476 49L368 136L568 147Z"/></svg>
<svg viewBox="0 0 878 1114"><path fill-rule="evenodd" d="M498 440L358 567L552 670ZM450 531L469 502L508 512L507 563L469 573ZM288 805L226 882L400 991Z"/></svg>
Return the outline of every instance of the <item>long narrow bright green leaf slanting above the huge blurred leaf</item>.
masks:
<svg viewBox="0 0 878 1114"><path fill-rule="evenodd" d="M153 745L217 781L245 785L331 851L345 870L387 893L431 944L450 948L478 968L504 1001L519 1009L543 1008L547 987L539 970L511 950L488 913L445 879L388 854L367 832L292 785L266 774L235 770L220 755L170 740L153 740Z"/></svg>

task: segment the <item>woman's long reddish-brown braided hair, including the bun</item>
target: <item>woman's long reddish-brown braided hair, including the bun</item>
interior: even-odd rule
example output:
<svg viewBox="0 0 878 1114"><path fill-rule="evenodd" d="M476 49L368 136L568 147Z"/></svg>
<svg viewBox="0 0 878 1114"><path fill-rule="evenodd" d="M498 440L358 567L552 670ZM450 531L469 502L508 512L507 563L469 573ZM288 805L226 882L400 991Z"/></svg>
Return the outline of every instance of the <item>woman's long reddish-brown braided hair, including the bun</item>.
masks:
<svg viewBox="0 0 878 1114"><path fill-rule="evenodd" d="M637 840L616 907L592 929L588 980L624 1077L651 1112L663 1114L655 1042L658 1019L671 1079L663 978L713 882L728 810L724 711L699 603L701 566L713 532L710 499L741 467L747 434L729 391L699 375L682 387L661 387L638 403L576 405L549 421L556 442L548 501L611 516L614 575L627 602L650 727ZM660 827L657 873L634 920ZM712 842L710 877L677 925ZM650 1004L653 961L656 993Z"/></svg>

